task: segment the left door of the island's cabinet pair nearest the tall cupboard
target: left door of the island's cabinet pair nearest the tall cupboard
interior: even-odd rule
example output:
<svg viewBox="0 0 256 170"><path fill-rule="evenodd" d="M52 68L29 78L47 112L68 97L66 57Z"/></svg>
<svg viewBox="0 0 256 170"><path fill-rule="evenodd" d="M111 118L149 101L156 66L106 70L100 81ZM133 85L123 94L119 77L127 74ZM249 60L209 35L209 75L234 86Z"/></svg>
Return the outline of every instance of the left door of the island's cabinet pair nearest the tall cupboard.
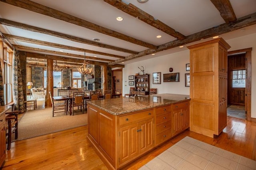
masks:
<svg viewBox="0 0 256 170"><path fill-rule="evenodd" d="M172 112L172 136L182 131L181 114L181 109Z"/></svg>

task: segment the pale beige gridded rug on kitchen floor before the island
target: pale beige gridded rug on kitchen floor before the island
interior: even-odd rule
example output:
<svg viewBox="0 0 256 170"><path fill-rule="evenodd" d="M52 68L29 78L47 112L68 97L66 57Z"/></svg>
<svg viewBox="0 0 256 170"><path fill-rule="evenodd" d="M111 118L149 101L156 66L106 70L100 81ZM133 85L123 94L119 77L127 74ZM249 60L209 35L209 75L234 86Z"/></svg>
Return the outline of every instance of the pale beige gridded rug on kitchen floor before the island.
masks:
<svg viewBox="0 0 256 170"><path fill-rule="evenodd" d="M185 137L140 170L255 170L256 161Z"/></svg>

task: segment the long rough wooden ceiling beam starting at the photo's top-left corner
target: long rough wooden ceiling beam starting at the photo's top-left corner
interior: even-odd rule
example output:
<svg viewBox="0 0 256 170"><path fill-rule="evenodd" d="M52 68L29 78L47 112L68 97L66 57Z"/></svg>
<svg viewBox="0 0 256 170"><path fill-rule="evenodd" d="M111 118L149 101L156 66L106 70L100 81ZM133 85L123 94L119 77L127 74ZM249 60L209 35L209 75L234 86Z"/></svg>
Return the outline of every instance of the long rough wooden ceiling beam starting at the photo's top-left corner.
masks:
<svg viewBox="0 0 256 170"><path fill-rule="evenodd" d="M54 10L53 8L49 8L47 6L38 4L36 2L30 1L30 0L0 0L1 2L14 5L20 8L24 8L26 10L30 10L32 12L36 12L38 14L46 15L52 18L56 18L58 20L66 21L68 23L72 23L81 27L85 27L87 29L91 29L93 31L97 31L102 34L106 34L118 39L122 39L124 41L128 41L133 44L141 45L143 47L147 47L150 49L157 49L155 45L152 45L150 43L146 43L144 41L141 41L139 39L135 39L133 37L129 37L128 35L124 35L122 33L118 33L116 31L113 31L111 29L102 27L100 25L96 25L94 23L91 23L89 21L83 20L81 18L77 18L75 16L66 14L64 12Z"/></svg>

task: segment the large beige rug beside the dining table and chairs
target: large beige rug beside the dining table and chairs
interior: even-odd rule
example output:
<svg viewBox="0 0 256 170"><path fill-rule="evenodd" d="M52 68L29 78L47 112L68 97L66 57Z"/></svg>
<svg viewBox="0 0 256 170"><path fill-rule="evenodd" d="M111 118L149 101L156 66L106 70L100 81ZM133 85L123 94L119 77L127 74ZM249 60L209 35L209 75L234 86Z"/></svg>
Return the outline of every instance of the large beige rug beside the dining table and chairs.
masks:
<svg viewBox="0 0 256 170"><path fill-rule="evenodd" d="M66 115L63 112L56 113L52 117L51 107L29 110L18 123L18 139L15 141L87 125L86 113L76 111L74 114L74 116Z"/></svg>

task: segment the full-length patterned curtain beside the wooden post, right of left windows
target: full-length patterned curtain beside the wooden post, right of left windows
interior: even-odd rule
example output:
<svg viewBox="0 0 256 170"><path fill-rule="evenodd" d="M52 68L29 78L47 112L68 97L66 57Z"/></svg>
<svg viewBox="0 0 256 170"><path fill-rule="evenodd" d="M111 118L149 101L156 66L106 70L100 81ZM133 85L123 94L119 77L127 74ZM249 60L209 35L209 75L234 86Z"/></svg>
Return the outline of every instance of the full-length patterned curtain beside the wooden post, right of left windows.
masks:
<svg viewBox="0 0 256 170"><path fill-rule="evenodd" d="M22 89L22 77L20 70L20 56L19 51L14 51L13 59L13 100L15 103L15 109L25 111L24 96Z"/></svg>

